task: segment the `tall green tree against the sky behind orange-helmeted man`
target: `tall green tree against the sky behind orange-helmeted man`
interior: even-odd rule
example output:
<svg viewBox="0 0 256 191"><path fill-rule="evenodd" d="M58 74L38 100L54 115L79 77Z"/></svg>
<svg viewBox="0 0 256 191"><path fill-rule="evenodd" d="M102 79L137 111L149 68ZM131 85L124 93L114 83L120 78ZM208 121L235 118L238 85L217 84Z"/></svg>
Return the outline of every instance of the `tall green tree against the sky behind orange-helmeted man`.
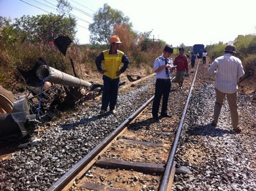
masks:
<svg viewBox="0 0 256 191"><path fill-rule="evenodd" d="M112 9L107 4L100 8L93 16L93 23L89 25L90 43L91 44L109 44L109 38L113 35L114 27L118 25L126 25L132 28L129 23L129 17L124 17L123 13Z"/></svg>

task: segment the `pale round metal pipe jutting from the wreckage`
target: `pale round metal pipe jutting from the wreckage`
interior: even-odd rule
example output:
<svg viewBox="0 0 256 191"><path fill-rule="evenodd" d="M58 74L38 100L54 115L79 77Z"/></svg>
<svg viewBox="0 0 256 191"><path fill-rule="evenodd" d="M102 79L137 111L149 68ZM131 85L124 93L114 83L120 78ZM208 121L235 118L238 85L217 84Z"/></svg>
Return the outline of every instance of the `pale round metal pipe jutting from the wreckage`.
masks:
<svg viewBox="0 0 256 191"><path fill-rule="evenodd" d="M86 87L91 88L92 84L56 70L50 66L42 65L37 69L37 76L39 79L45 79L45 81L52 82L55 84L62 84L71 87Z"/></svg>

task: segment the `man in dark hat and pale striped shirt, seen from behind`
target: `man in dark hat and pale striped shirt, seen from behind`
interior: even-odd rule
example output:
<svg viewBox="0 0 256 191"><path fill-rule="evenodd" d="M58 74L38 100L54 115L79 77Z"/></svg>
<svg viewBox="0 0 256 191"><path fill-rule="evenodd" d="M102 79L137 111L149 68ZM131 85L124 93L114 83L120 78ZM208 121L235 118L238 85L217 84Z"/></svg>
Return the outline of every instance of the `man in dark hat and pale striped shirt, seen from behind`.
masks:
<svg viewBox="0 0 256 191"><path fill-rule="evenodd" d="M226 96L233 130L240 132L242 129L238 126L237 81L244 75L244 71L241 60L234 56L236 50L233 45L227 45L224 52L225 54L216 58L208 68L209 73L216 74L216 101L211 124L213 126L217 125L221 107Z"/></svg>

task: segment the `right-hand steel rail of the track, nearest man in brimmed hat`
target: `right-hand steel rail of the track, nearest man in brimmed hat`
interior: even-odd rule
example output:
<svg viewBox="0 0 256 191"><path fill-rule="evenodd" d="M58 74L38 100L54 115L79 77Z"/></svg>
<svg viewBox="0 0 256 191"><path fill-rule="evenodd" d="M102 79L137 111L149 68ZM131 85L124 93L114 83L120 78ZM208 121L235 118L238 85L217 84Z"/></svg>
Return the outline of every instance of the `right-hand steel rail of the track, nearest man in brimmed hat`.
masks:
<svg viewBox="0 0 256 191"><path fill-rule="evenodd" d="M166 191L168 189L168 186L170 186L169 185L170 174L171 174L171 170L172 170L172 167L173 167L174 157L175 157L175 153L176 153L176 150L177 150L177 146L178 146L178 142L179 142L182 126L183 126L184 119L185 119L185 116L186 116L189 99L190 99L190 96L192 94L194 82L195 82L195 79L196 79L196 74L197 74L197 71L198 71L198 66L199 66L199 61L198 61L196 72L195 72L195 75L194 75L194 78L193 78L193 81L192 81L192 84L191 84L191 87L190 87L190 90L189 90L189 94L188 94L188 98L187 98L187 101L186 101L186 105L184 107L183 114L181 116L181 120L180 120L178 129L177 129L174 141L173 141L171 152L169 154L169 157L168 157L168 160L167 160L167 163L166 163L164 175L163 175L163 177L161 179L161 182L160 182L160 185L159 185L159 188L158 188L159 191Z"/></svg>

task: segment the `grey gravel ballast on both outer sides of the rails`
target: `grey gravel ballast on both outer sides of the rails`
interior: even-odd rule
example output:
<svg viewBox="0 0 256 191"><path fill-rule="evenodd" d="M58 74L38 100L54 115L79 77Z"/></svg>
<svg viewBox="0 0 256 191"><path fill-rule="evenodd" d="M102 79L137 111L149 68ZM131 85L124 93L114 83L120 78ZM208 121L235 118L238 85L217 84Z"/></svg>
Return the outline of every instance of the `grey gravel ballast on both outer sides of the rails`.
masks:
<svg viewBox="0 0 256 191"><path fill-rule="evenodd" d="M192 174L176 174L173 190L256 190L255 103L250 95L239 93L241 133L232 130L227 101L218 125L210 125L215 92L214 79L206 70L206 65L199 64L175 158L177 165L188 167ZM154 84L153 78L119 95L116 116L99 116L100 103L83 102L41 125L32 135L32 140L40 139L37 145L19 149L0 162L0 189L47 190L144 104L154 94Z"/></svg>

